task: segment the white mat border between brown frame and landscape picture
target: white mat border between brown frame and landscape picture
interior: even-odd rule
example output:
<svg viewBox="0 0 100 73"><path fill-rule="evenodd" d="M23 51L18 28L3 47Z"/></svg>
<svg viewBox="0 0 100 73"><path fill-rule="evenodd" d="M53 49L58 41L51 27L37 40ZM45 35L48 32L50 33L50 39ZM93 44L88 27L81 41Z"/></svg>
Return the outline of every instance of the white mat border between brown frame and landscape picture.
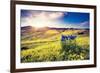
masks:
<svg viewBox="0 0 100 73"><path fill-rule="evenodd" d="M38 63L20 63L20 10L46 10L46 11L70 11L70 12L88 12L90 13L90 60L84 61L60 61L60 62L38 62ZM71 7L51 7L51 6L36 6L36 5L16 5L16 69L24 68L41 68L41 67L57 67L57 66L75 66L75 65L90 65L94 64L94 10L86 8L71 8Z"/></svg>

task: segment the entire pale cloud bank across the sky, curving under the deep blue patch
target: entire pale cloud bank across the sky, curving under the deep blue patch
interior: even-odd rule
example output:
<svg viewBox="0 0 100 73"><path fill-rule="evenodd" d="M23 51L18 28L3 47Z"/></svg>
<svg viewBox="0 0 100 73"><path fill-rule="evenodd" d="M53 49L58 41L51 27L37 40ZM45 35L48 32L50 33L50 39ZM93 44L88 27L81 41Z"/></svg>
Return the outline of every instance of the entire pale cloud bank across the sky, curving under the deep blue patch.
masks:
<svg viewBox="0 0 100 73"><path fill-rule="evenodd" d="M89 21L67 24L60 22L60 18L68 13L49 11L28 11L28 16L21 17L21 26L58 27L58 28L89 28Z"/></svg>

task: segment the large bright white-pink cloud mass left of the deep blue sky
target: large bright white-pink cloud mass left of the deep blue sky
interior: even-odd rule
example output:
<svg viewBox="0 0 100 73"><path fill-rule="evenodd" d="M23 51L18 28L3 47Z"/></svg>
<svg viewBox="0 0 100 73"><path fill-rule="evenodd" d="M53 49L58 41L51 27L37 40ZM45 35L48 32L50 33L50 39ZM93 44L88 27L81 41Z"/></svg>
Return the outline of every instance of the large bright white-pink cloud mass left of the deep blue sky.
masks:
<svg viewBox="0 0 100 73"><path fill-rule="evenodd" d="M58 27L59 18L64 16L63 12L29 11L29 16L21 18L21 26L33 27Z"/></svg>

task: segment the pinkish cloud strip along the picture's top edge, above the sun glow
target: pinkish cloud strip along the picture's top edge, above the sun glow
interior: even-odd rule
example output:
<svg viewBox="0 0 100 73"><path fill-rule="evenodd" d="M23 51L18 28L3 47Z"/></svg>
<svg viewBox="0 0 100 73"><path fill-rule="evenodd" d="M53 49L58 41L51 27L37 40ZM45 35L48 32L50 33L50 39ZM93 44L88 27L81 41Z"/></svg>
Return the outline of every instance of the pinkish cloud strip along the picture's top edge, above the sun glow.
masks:
<svg viewBox="0 0 100 73"><path fill-rule="evenodd" d="M32 18L44 18L44 19L50 19L55 20L63 17L63 12L47 12L47 11L30 11L30 17Z"/></svg>

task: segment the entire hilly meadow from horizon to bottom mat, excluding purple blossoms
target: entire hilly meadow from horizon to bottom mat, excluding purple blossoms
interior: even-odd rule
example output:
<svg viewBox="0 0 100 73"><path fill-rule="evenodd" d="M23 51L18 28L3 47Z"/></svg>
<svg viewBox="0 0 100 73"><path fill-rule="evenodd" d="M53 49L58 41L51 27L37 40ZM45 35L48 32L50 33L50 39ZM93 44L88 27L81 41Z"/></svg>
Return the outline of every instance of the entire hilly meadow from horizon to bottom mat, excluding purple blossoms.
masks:
<svg viewBox="0 0 100 73"><path fill-rule="evenodd" d="M76 38L62 41L62 35ZM87 29L21 29L21 62L88 60L89 40Z"/></svg>

